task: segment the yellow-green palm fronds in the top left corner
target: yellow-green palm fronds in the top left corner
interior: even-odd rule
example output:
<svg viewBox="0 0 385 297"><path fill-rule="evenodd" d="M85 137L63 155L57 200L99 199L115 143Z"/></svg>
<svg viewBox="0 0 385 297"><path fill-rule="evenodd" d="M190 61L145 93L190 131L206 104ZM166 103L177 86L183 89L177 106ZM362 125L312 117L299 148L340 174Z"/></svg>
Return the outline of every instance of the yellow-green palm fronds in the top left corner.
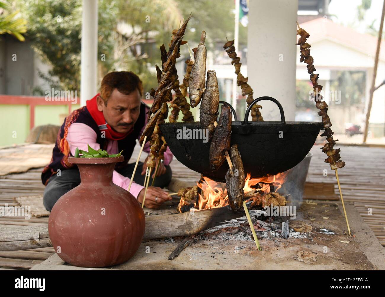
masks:
<svg viewBox="0 0 385 297"><path fill-rule="evenodd" d="M12 7L5 1L0 1L0 34L11 34L18 40L24 41L22 33L27 32L26 20L18 17L18 11L11 12Z"/></svg>

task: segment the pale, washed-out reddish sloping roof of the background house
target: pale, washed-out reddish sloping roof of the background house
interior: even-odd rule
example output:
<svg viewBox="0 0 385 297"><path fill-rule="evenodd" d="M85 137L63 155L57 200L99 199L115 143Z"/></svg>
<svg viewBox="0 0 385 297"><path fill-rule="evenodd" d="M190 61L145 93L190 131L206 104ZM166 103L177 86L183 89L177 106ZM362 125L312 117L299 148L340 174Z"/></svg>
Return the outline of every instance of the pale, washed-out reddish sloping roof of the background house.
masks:
<svg viewBox="0 0 385 297"><path fill-rule="evenodd" d="M315 20L301 23L300 27L310 34L308 39L310 44L327 38L346 47L354 48L359 52L372 55L373 59L376 55L378 37L358 33L353 28L344 27L332 22L328 18L316 18ZM385 41L381 42L380 59L385 60Z"/></svg>

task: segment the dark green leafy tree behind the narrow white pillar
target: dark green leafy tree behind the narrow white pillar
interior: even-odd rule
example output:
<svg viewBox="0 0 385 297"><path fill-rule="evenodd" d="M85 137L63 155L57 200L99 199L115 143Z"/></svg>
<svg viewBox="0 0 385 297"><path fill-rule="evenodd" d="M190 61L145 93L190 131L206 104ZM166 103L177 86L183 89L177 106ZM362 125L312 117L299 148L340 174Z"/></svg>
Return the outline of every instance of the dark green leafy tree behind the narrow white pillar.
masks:
<svg viewBox="0 0 385 297"><path fill-rule="evenodd" d="M49 75L40 76L51 87L65 90L80 89L80 50L82 30L81 0L18 0L18 5L28 20L28 36L42 60L52 66ZM98 57L112 50L113 5L100 1ZM105 11L110 13L105 14ZM106 56L106 63L112 57Z"/></svg>

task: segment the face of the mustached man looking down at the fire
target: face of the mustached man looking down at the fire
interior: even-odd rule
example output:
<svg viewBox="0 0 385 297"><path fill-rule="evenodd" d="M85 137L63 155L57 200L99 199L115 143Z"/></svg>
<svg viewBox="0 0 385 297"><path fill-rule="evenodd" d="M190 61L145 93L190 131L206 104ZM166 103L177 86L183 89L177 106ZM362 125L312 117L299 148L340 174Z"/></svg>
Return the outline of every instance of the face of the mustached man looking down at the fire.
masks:
<svg viewBox="0 0 385 297"><path fill-rule="evenodd" d="M97 97L98 110L103 112L105 121L119 133L127 133L136 123L141 105L141 96L136 89L129 95L124 95L117 89L112 91L107 106L103 99Z"/></svg>

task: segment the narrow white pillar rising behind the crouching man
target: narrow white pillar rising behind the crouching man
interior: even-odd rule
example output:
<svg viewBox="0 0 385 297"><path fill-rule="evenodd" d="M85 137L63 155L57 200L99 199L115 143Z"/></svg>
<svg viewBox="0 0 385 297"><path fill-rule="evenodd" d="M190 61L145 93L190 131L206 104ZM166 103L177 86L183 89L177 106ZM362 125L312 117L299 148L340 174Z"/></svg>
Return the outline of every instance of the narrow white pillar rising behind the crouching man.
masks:
<svg viewBox="0 0 385 297"><path fill-rule="evenodd" d="M83 0L80 105L97 94L98 1Z"/></svg>

